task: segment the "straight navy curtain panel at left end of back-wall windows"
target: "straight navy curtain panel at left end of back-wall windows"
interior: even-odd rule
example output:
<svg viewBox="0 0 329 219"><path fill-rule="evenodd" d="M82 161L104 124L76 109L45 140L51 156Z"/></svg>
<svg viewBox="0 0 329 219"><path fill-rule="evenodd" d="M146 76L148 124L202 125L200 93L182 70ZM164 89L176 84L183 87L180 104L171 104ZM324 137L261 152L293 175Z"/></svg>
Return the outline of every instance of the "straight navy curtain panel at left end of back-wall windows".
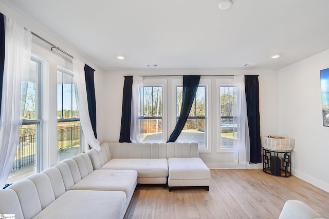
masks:
<svg viewBox="0 0 329 219"><path fill-rule="evenodd" d="M124 76L121 130L120 130L119 142L131 142L130 127L131 127L131 117L132 117L132 89L133 89L133 76Z"/></svg>

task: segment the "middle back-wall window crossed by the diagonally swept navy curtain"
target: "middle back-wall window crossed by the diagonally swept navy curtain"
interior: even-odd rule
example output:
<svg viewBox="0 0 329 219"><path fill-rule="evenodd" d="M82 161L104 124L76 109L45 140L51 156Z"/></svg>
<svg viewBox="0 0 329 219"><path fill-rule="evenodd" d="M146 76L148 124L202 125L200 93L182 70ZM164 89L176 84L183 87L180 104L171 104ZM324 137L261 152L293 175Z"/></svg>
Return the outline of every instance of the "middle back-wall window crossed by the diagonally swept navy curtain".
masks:
<svg viewBox="0 0 329 219"><path fill-rule="evenodd" d="M177 121L182 104L182 86L176 87ZM206 86L199 86L192 104L188 120L177 138L177 142L197 142L200 149L207 148Z"/></svg>

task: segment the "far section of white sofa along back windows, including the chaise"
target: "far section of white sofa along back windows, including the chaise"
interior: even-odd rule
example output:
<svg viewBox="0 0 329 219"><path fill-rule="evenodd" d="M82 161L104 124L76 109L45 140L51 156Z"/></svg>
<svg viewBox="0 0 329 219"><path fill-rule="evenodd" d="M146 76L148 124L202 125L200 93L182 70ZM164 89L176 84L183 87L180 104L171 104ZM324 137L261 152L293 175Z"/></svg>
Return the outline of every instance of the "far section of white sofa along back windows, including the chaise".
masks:
<svg viewBox="0 0 329 219"><path fill-rule="evenodd" d="M94 169L131 169L138 184L164 184L209 190L210 170L199 158L197 143L103 143L87 151Z"/></svg>

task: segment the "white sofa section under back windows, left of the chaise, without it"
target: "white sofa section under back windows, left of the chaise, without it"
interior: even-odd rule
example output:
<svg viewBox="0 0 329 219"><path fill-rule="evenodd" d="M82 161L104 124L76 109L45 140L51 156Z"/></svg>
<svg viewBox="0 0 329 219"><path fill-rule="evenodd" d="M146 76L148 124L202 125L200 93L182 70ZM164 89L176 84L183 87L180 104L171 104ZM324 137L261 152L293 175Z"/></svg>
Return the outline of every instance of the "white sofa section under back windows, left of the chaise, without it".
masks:
<svg viewBox="0 0 329 219"><path fill-rule="evenodd" d="M101 167L95 165L94 169L136 170L138 184L167 184L166 143L103 143L101 148L102 152L103 150L107 152L105 163L100 161ZM96 150L88 152L95 155ZM97 160L97 156L91 157ZM101 160L101 157L99 159Z"/></svg>

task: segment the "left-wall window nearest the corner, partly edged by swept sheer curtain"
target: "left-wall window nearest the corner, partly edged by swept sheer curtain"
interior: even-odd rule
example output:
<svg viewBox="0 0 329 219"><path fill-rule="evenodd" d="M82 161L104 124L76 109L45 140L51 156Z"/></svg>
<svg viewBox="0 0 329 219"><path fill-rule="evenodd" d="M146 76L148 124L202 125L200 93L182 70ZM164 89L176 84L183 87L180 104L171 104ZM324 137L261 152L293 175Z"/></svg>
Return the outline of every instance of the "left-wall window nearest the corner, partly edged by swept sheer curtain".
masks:
<svg viewBox="0 0 329 219"><path fill-rule="evenodd" d="M63 68L57 71L58 161L81 152L81 132L76 87L73 74Z"/></svg>

